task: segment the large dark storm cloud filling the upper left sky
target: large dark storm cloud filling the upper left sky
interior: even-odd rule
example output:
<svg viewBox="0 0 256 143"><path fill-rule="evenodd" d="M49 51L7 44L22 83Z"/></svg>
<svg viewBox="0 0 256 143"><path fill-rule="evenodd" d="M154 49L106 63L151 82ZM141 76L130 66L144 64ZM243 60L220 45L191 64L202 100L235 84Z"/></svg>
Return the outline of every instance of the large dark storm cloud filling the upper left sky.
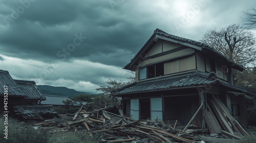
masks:
<svg viewBox="0 0 256 143"><path fill-rule="evenodd" d="M6 17L12 18L15 12L18 13L17 8L23 6L18 1L3 3L5 10L1 13L5 15L5 20ZM75 34L81 34L87 39L67 54L66 60L84 58L92 62L124 66L127 61L119 59L123 55L128 59L133 58L140 48L138 45L142 46L146 41L144 37L150 35L144 34L147 26L141 29L131 21L131 17L127 17L127 11L119 12L113 11L106 1L30 2L24 13L11 21L9 27L3 28L0 49L8 56L49 63L60 58L57 52L64 53L62 48L67 49L72 44ZM6 23L2 21L2 24ZM150 31L152 34L154 28ZM118 56L118 49L124 53ZM115 56L110 56L113 54Z"/></svg>

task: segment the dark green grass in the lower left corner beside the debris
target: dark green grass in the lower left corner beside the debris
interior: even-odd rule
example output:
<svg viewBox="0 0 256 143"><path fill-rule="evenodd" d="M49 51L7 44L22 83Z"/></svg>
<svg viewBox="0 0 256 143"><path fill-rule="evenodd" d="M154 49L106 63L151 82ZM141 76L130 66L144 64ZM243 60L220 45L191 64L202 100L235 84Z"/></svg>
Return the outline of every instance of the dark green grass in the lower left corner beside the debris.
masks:
<svg viewBox="0 0 256 143"><path fill-rule="evenodd" d="M0 142L10 142L10 143L96 143L99 142L99 134L90 136L88 134L83 135L82 132L69 132L69 133L53 133L50 134L48 130L41 129L35 130L33 126L29 123L19 122L15 119L8 118L8 125L4 125L5 118L0 118L0 130L3 132L5 126L8 126L8 139L5 139L5 135L1 133Z"/></svg>

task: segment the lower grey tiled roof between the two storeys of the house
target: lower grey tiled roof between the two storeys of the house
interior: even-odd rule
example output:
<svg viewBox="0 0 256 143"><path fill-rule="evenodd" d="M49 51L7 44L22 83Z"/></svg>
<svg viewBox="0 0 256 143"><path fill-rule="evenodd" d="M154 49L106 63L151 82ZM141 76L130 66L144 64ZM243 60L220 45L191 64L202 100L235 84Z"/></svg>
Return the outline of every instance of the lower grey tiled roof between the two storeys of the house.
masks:
<svg viewBox="0 0 256 143"><path fill-rule="evenodd" d="M175 89L179 87L193 87L196 85L207 85L207 84L220 84L224 87L231 88L234 90L239 90L245 93L249 93L249 91L244 90L243 88L236 87L230 85L227 82L221 81L216 78L216 74L205 73L201 71L195 71L191 73L170 76L170 77L162 77L152 80L145 80L141 82L137 82L136 84L131 85L130 87L125 87L123 89L119 89L114 91L114 95L119 94L130 94L137 92L150 92L156 90L168 90Z"/></svg>

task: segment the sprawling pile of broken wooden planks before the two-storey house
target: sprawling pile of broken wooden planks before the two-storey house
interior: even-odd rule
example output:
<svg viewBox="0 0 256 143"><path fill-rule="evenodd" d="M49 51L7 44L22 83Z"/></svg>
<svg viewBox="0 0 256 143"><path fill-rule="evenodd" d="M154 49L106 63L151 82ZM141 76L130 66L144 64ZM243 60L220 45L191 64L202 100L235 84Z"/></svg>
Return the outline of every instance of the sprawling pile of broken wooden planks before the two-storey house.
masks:
<svg viewBox="0 0 256 143"><path fill-rule="evenodd" d="M217 123L212 122L210 113L204 110L208 129L190 125L167 125L161 120L134 120L123 116L122 110L113 113L115 107L102 108L87 112L83 106L72 115L59 115L60 119L46 120L36 123L35 129L49 129L50 132L75 131L82 134L101 134L101 142L211 142L223 140L239 141L240 135L234 135L224 130L218 130ZM200 109L200 108L199 108ZM217 121L217 120L216 120ZM212 124L212 125L211 125ZM215 133L217 130L218 133ZM216 140L218 138L220 140ZM214 139L214 140L211 140Z"/></svg>

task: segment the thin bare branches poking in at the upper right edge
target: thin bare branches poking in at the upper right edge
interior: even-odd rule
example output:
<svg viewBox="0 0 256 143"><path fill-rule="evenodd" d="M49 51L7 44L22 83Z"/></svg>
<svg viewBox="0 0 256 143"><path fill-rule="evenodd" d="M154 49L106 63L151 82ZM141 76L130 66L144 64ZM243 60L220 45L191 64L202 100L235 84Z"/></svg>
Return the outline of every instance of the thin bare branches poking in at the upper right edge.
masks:
<svg viewBox="0 0 256 143"><path fill-rule="evenodd" d="M255 28L256 27L256 10L255 8L247 9L244 12L244 17L242 17L243 22L246 28Z"/></svg>

